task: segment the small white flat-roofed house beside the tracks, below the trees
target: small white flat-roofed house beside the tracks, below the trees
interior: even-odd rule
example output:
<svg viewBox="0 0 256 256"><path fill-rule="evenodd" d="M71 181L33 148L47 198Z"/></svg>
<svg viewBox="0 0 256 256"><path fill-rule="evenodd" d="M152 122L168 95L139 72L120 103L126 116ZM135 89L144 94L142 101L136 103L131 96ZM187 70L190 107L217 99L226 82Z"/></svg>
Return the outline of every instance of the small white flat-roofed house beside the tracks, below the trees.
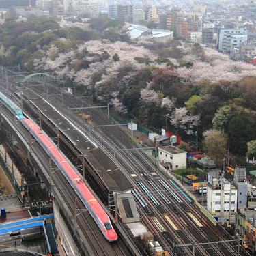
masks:
<svg viewBox="0 0 256 256"><path fill-rule="evenodd" d="M186 168L186 151L180 150L178 147L159 147L158 160L165 164L170 163L171 169L185 169Z"/></svg>

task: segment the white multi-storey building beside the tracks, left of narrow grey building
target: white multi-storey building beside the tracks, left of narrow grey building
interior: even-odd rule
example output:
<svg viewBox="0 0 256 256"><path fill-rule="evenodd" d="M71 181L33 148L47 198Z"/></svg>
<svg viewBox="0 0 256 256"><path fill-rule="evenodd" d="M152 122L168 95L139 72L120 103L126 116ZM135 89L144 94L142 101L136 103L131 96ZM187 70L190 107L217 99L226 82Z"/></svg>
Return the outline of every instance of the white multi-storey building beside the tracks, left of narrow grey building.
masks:
<svg viewBox="0 0 256 256"><path fill-rule="evenodd" d="M233 223L237 211L237 188L224 177L210 180L211 182L208 182L207 187L208 212L221 218L221 222Z"/></svg>

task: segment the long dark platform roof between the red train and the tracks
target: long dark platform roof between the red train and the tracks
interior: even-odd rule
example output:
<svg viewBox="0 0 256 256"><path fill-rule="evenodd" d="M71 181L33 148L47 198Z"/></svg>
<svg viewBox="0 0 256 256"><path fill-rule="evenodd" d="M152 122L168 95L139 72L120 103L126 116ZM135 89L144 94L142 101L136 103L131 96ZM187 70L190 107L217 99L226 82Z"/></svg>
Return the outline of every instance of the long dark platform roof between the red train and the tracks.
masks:
<svg viewBox="0 0 256 256"><path fill-rule="evenodd" d="M48 104L44 99L39 98L32 91L24 89L23 93L35 109L40 110L42 115L48 119L65 137L72 143L85 160L93 167L94 172L100 178L107 190L123 193L133 188L127 177L115 165L115 163L75 124Z"/></svg>

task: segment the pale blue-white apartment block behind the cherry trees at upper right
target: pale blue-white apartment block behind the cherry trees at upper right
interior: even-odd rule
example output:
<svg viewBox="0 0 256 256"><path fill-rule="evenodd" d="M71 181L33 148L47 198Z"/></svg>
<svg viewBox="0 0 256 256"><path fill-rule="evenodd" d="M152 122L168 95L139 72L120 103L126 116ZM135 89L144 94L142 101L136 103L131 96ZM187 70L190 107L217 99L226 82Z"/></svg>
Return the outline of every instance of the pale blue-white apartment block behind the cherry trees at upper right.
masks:
<svg viewBox="0 0 256 256"><path fill-rule="evenodd" d="M222 53L232 53L233 48L239 48L247 42L247 31L240 29L221 29L218 33L218 50Z"/></svg>

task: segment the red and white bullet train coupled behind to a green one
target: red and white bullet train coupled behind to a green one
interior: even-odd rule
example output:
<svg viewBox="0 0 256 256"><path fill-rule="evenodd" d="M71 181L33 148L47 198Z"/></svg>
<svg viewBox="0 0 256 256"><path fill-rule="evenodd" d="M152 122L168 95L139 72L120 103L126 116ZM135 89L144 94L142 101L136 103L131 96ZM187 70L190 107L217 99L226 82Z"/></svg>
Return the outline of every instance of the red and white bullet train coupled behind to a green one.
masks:
<svg viewBox="0 0 256 256"><path fill-rule="evenodd" d="M85 185L83 180L81 180L78 173L76 173L76 169L71 162L58 150L55 143L53 143L53 141L51 141L51 139L44 134L42 130L40 130L37 124L26 117L19 117L19 119L27 130L31 132L33 137L35 137L36 141L38 141L44 150L48 152L51 158L53 158L55 165L57 165L72 188L74 188L77 195L79 195L79 198L85 204L85 207L91 214L91 217L94 218L94 221L97 223L104 237L110 242L117 240L118 236L111 225L109 216L106 214L96 197L94 197L89 188Z"/></svg>

